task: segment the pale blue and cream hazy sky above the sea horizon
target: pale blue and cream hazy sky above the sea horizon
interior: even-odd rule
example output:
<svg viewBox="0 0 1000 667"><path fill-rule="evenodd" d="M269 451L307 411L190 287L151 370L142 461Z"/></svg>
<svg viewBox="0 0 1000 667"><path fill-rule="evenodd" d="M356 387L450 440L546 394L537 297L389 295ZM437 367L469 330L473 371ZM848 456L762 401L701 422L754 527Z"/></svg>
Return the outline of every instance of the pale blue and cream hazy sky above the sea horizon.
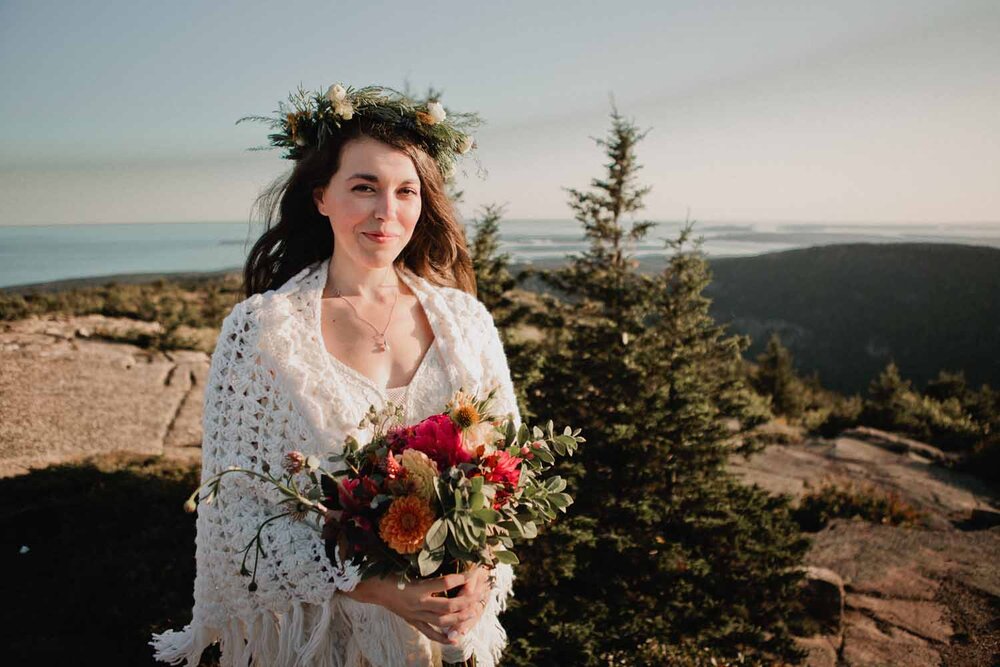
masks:
<svg viewBox="0 0 1000 667"><path fill-rule="evenodd" d="M471 215L570 218L608 96L645 217L1000 224L1000 2L0 0L0 225L246 220L299 83L478 111Z"/></svg>

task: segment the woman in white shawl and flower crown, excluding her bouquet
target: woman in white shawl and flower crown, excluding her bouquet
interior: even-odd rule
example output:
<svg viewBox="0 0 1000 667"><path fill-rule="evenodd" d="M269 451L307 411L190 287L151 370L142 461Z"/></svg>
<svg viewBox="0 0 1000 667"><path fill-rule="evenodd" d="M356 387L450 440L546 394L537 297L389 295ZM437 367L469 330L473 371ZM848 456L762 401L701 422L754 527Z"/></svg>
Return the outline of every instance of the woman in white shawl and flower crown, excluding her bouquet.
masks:
<svg viewBox="0 0 1000 667"><path fill-rule="evenodd" d="M268 229L244 270L246 299L226 317L205 387L202 480L240 466L278 469L293 450L325 459L369 406L404 406L407 423L459 388L498 389L497 414L520 425L493 318L475 297L465 235L445 193L473 147L474 114L384 88L299 91L274 146L294 167L259 204ZM153 636L158 660L221 664L440 665L499 661L508 565L397 587L335 568L318 533L270 523L256 583L243 549L278 513L273 489L245 475L198 505L194 609ZM451 591L454 597L446 597Z"/></svg>

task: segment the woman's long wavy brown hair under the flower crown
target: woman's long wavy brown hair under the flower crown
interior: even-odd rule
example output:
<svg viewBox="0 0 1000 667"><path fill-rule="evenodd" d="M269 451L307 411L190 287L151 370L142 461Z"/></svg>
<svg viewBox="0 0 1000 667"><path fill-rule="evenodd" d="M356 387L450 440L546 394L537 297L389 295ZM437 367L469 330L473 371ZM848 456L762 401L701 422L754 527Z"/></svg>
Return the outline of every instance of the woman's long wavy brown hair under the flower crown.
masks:
<svg viewBox="0 0 1000 667"><path fill-rule="evenodd" d="M310 264L332 256L333 230L330 220L316 209L313 191L329 183L340 167L344 146L360 137L377 139L406 153L420 178L420 217L395 264L435 285L475 296L476 276L465 229L445 192L437 162L420 147L419 139L405 131L360 121L350 132L328 140L322 149L306 152L290 174L257 198L254 207L264 219L265 231L243 267L246 296L276 289Z"/></svg>

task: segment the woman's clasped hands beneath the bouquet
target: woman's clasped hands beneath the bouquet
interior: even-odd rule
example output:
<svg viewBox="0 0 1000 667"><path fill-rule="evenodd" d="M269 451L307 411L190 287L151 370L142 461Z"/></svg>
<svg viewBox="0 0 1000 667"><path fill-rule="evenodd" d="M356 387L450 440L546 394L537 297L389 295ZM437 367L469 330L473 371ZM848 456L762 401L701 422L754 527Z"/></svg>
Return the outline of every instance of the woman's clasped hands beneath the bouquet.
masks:
<svg viewBox="0 0 1000 667"><path fill-rule="evenodd" d="M447 591L458 586L462 590L457 597L445 597ZM433 641L458 645L462 634L482 616L485 605L479 601L488 591L488 575L484 568L477 567L465 574L410 582L402 590L394 577L365 579L343 594L358 602L385 607Z"/></svg>

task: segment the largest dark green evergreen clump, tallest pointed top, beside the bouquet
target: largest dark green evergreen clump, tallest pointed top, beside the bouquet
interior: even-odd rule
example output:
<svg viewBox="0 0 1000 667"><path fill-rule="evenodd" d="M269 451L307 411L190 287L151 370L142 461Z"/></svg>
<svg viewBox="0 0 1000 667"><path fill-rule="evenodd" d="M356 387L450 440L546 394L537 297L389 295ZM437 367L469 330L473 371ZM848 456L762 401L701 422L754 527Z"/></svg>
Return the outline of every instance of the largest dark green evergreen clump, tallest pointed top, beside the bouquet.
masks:
<svg viewBox="0 0 1000 667"><path fill-rule="evenodd" d="M645 133L614 108L611 121L597 140L606 177L568 190L590 247L540 274L563 299L547 312L528 403L587 443L560 471L576 499L569 515L522 558L508 661L642 664L650 642L801 657L785 619L808 542L786 497L725 469L759 449L754 427L769 416L742 379L748 341L709 316L690 225L662 275L635 270L630 246L652 223L625 231L623 218L649 191L636 183Z"/></svg>

